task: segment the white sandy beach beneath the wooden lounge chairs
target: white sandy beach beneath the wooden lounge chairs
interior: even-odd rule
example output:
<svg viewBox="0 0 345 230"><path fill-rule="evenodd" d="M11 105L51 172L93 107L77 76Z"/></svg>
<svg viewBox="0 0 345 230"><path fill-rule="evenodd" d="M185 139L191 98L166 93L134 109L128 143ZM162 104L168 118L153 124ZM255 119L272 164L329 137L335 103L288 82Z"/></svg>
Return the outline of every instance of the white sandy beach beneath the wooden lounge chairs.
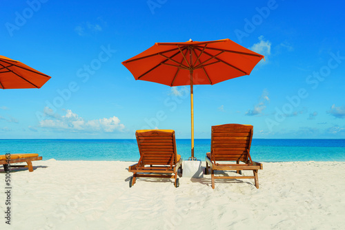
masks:
<svg viewBox="0 0 345 230"><path fill-rule="evenodd" d="M345 163L264 163L253 180L143 179L128 187L132 163L33 162L12 172L12 220L0 229L344 229ZM203 162L203 165L205 163ZM251 174L246 171L245 174ZM232 174L230 172L230 174ZM149 181L148 181L149 180ZM160 182L159 182L160 181Z"/></svg>

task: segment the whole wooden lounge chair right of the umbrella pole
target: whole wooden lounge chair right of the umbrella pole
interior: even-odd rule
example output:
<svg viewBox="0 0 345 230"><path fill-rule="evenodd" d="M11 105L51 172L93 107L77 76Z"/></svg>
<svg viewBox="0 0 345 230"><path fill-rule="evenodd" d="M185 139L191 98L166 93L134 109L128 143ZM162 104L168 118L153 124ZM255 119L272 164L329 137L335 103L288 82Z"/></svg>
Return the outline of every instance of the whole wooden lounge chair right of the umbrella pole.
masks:
<svg viewBox="0 0 345 230"><path fill-rule="evenodd" d="M206 170L211 169L212 188L215 189L215 178L221 179L255 179L255 187L259 189L258 169L262 164L254 162L250 157L250 144L253 138L253 125L215 125L212 127L211 152L206 154ZM236 163L219 163L221 161L236 161ZM253 170L254 176L215 176L215 170Z"/></svg>

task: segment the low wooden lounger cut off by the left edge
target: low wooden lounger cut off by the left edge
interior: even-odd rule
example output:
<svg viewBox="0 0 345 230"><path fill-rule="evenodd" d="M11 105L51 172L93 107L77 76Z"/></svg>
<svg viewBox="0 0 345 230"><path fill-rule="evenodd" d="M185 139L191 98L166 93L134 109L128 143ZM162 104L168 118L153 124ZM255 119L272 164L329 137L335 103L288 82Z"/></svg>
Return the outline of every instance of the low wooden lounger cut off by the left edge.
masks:
<svg viewBox="0 0 345 230"><path fill-rule="evenodd" d="M6 158L6 155L0 155L0 165L3 165L3 169L7 171L9 165L10 167L27 167L29 171L34 171L32 169L32 160L42 160L39 154L10 154L10 160ZM27 165L12 165L13 163L26 162Z"/></svg>

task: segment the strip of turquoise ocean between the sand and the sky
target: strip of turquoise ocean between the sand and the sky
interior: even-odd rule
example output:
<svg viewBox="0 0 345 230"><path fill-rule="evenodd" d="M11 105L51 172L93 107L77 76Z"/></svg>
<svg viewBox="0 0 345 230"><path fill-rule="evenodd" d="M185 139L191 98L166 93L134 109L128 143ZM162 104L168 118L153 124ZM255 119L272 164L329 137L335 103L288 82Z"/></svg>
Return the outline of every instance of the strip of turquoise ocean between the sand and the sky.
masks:
<svg viewBox="0 0 345 230"><path fill-rule="evenodd" d="M177 139L177 153L190 157L190 140ZM137 140L0 140L0 154L37 153L43 160L139 159ZM205 160L210 139L195 140L195 156ZM255 161L345 161L345 139L253 139L250 155Z"/></svg>

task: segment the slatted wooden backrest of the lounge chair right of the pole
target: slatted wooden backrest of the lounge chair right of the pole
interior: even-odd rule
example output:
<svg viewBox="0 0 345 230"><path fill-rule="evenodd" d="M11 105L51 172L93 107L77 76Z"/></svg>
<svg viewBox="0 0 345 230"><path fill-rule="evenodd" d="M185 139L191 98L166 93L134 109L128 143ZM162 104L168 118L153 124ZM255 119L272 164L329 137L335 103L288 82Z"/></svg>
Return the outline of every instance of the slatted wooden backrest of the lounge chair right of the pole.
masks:
<svg viewBox="0 0 345 230"><path fill-rule="evenodd" d="M226 124L212 127L211 159L239 160L251 163L250 143L253 138L253 125Z"/></svg>

